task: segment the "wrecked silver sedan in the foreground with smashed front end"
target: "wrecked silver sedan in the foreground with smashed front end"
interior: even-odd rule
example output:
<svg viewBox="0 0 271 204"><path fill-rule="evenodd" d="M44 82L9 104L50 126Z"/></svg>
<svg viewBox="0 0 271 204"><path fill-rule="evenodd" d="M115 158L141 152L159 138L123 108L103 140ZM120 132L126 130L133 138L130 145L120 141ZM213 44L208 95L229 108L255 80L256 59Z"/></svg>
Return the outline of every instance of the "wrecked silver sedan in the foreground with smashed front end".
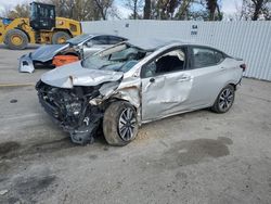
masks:
<svg viewBox="0 0 271 204"><path fill-rule="evenodd" d="M76 143L99 127L112 145L126 145L145 123L211 107L228 112L242 60L205 46L129 40L42 75L40 103Z"/></svg>

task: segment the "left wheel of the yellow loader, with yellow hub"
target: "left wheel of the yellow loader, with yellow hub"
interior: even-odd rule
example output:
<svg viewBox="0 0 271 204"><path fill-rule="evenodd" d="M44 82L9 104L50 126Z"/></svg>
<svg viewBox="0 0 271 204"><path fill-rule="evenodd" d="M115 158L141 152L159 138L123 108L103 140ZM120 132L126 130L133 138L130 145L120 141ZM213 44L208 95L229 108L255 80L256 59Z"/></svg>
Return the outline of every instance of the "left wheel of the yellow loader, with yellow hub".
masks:
<svg viewBox="0 0 271 204"><path fill-rule="evenodd" d="M24 31L11 29L5 35L4 43L12 50L24 50L28 44L28 38Z"/></svg>

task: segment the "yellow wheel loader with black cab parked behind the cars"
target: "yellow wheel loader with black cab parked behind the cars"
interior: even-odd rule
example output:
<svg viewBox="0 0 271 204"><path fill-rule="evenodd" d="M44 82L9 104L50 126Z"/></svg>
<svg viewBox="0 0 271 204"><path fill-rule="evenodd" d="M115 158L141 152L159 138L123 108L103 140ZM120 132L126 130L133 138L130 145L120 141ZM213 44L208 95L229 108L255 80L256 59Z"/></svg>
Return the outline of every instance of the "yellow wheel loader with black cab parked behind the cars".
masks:
<svg viewBox="0 0 271 204"><path fill-rule="evenodd" d="M33 2L30 8L30 18L0 20L0 43L23 50L28 43L64 43L81 34L79 22L55 17L54 5Z"/></svg>

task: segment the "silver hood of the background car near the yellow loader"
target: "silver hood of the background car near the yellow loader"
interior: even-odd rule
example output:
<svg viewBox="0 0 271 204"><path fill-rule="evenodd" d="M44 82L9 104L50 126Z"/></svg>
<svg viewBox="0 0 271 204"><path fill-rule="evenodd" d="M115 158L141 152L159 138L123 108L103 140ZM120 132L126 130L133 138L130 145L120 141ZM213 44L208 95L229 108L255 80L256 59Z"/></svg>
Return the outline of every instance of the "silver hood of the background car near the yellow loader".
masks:
<svg viewBox="0 0 271 204"><path fill-rule="evenodd" d="M30 53L30 58L31 60L35 61L47 62L49 60L52 60L53 56L57 54L60 51L68 47L69 47L68 43L41 46L37 50Z"/></svg>

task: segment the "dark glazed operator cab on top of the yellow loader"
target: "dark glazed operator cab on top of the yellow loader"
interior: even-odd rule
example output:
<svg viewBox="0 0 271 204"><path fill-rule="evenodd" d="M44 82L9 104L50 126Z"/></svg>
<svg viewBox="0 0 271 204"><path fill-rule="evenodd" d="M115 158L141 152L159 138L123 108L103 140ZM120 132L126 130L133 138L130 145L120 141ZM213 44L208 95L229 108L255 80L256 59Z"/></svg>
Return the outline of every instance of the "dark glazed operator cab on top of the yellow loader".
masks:
<svg viewBox="0 0 271 204"><path fill-rule="evenodd" d="M30 3L30 26L35 30L52 29L55 27L55 8L51 4Z"/></svg>

